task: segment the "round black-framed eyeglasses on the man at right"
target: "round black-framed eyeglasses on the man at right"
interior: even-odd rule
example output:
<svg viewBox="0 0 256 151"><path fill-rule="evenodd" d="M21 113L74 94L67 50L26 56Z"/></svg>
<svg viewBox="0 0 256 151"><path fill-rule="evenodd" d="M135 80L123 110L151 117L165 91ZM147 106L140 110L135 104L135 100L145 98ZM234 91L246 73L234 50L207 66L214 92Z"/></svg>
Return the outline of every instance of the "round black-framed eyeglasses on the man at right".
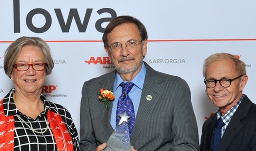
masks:
<svg viewBox="0 0 256 151"><path fill-rule="evenodd" d="M222 87L229 87L231 85L231 82L242 77L243 75L240 75L234 79L227 79L227 78L223 78L223 79L220 79L220 80L213 80L213 79L210 79L210 80L206 80L204 79L204 83L205 85L207 86L207 88L214 88L216 86L216 83L217 81L219 81L219 84L222 86Z"/></svg>

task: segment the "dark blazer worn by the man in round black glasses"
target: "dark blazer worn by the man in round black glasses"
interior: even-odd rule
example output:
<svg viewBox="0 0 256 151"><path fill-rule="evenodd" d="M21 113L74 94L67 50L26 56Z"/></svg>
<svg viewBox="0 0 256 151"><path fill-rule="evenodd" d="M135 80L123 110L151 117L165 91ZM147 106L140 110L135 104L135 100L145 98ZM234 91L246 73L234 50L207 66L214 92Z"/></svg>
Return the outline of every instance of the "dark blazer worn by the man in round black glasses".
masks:
<svg viewBox="0 0 256 151"><path fill-rule="evenodd" d="M203 124L200 151L212 151L217 114ZM256 104L241 101L223 134L217 151L256 151Z"/></svg>

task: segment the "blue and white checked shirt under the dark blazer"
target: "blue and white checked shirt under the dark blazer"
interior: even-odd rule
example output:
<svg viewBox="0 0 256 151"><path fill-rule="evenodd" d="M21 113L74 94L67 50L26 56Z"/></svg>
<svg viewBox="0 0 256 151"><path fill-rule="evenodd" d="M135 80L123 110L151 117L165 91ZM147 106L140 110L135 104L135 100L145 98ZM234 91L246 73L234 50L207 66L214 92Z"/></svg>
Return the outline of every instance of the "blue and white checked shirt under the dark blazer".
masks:
<svg viewBox="0 0 256 151"><path fill-rule="evenodd" d="M228 126L230 120L231 120L231 118L232 118L233 115L235 114L236 109L238 108L239 104L240 104L241 101L243 100L243 98L244 98L244 94L243 94L242 97L239 99L239 101L236 102L236 104L235 104L223 117L221 116L220 111L217 112L217 120L218 120L219 118L222 118L223 122L225 123L225 125L224 125L224 126L222 127L222 129L221 129L221 138L222 138L222 136L223 136L223 134L224 134L224 132L225 132L225 130L226 130L226 128L227 128L227 126Z"/></svg>

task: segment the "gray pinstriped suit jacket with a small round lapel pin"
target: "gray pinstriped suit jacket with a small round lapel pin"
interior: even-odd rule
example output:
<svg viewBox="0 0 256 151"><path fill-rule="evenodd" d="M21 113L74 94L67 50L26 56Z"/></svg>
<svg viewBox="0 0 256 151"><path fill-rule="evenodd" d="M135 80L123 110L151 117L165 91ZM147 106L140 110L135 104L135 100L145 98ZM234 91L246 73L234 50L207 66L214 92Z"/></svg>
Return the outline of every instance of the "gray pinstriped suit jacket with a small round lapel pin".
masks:
<svg viewBox="0 0 256 151"><path fill-rule="evenodd" d="M177 76L146 65L145 82L136 116L131 145L139 151L198 151L198 130L188 84ZM86 81L80 106L80 149L95 151L107 142L112 101L105 109L98 100L99 88L113 90L116 71ZM146 96L151 95L151 101ZM118 100L119 96L116 96ZM113 111L116 112L116 111Z"/></svg>

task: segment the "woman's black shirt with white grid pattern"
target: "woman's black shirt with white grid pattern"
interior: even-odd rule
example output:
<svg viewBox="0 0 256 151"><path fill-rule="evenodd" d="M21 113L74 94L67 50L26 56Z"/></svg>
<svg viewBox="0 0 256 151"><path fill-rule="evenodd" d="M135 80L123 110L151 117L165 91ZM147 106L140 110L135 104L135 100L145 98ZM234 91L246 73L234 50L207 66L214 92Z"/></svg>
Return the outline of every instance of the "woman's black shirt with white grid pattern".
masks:
<svg viewBox="0 0 256 151"><path fill-rule="evenodd" d="M23 121L17 117L17 115L19 115L27 124L30 125L30 127L32 127L32 129L36 130L37 132L43 132L47 127L48 119L46 114L48 110L59 113L72 137L74 151L79 151L79 138L77 129L70 113L63 106L47 101L45 97L41 95L40 99L44 103L44 110L36 119L33 119L22 114L17 109L13 100L14 92L15 89L11 89L11 91L3 98L3 108L5 115L14 115L14 151L57 151L54 135L50 127L44 134L34 133Z"/></svg>

